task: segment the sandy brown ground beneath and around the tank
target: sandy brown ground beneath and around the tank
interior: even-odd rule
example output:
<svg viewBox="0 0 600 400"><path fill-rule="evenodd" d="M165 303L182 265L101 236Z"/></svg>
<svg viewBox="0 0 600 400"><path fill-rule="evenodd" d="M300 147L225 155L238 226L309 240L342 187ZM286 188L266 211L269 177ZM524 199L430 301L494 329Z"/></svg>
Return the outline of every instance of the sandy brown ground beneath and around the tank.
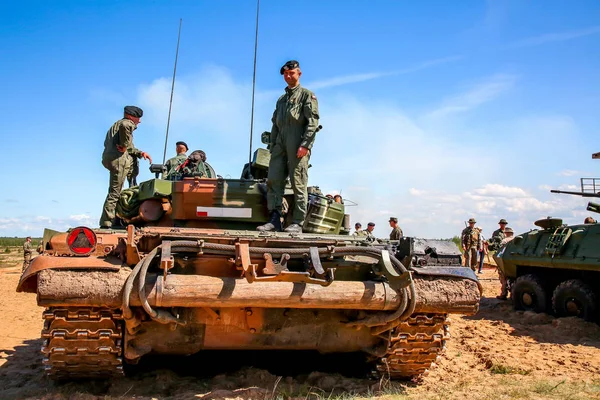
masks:
<svg viewBox="0 0 600 400"><path fill-rule="evenodd" d="M18 257L0 257L0 399L600 399L600 326L513 311L495 298L491 268L480 275L480 312L452 316L447 350L419 382L369 379L353 356L219 352L150 357L127 378L57 384L43 375L42 309L34 294L15 292Z"/></svg>

